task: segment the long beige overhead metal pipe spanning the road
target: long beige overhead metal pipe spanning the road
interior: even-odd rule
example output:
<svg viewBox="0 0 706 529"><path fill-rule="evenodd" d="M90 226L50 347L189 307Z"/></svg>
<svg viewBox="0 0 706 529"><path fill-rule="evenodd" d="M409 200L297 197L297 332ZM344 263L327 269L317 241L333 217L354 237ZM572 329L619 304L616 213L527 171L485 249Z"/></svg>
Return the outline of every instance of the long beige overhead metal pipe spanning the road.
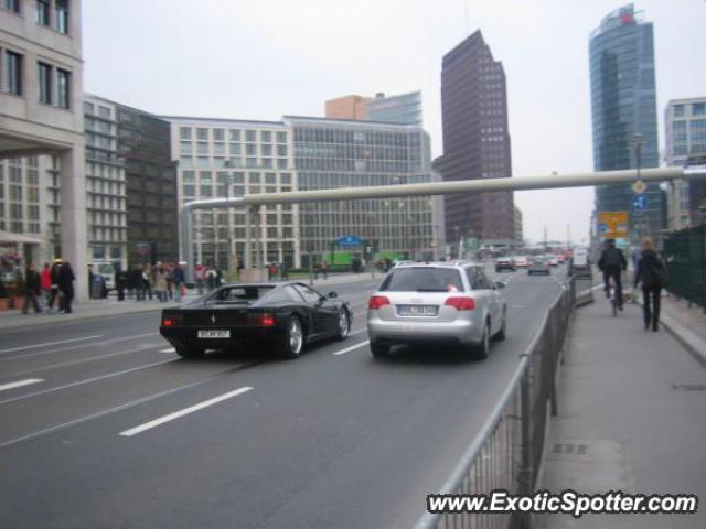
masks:
<svg viewBox="0 0 706 529"><path fill-rule="evenodd" d="M678 179L703 179L703 168L641 169L643 182L664 182ZM454 182L430 182L426 184L379 185L367 187L343 187L336 190L290 191L286 193L259 193L243 197L210 198L184 204L181 210L181 256L186 261L186 280L193 281L193 219L196 209L260 206L268 204L303 204L310 202L360 201L404 196L452 195L460 193L492 193L498 191L552 190L559 187L585 187L592 185L625 184L638 180L638 171L605 171L597 173L549 174L539 176L514 176L512 179L479 179ZM259 226L255 227L260 229ZM259 251L259 249L258 249Z"/></svg>

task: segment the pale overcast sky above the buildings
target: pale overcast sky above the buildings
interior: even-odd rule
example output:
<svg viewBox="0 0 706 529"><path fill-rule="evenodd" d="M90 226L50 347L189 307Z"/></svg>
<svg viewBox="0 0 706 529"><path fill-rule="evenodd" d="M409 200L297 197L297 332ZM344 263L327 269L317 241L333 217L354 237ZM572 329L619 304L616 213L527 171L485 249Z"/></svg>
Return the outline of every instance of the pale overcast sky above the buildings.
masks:
<svg viewBox="0 0 706 529"><path fill-rule="evenodd" d="M513 174L592 170L588 37L610 0L84 0L88 93L162 115L279 120L325 99L422 90L442 153L441 57L480 29L507 76ZM706 96L706 1L635 2L670 99ZM588 236L592 188L515 193L525 237Z"/></svg>

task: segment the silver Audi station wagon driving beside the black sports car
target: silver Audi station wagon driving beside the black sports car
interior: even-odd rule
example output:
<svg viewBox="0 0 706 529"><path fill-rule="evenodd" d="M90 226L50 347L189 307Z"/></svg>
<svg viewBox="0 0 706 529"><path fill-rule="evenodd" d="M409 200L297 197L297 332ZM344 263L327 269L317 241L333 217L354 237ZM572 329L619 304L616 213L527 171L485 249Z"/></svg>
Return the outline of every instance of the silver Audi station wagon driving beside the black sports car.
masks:
<svg viewBox="0 0 706 529"><path fill-rule="evenodd" d="M426 343L461 346L486 358L491 338L505 338L507 304L501 288L471 261L395 267L368 300L373 356L387 356L395 344Z"/></svg>

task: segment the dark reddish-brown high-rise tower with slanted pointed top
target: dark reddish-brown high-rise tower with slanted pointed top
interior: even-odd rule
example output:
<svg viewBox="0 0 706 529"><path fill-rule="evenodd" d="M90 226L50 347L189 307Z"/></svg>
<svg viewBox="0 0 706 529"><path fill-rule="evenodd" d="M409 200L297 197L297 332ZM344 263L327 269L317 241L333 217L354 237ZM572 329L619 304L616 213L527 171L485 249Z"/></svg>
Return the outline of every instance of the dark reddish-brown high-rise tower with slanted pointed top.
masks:
<svg viewBox="0 0 706 529"><path fill-rule="evenodd" d="M443 155L434 166L445 181L512 175L505 73L480 30L443 56L441 118ZM448 244L515 245L511 192L447 196L445 216Z"/></svg>

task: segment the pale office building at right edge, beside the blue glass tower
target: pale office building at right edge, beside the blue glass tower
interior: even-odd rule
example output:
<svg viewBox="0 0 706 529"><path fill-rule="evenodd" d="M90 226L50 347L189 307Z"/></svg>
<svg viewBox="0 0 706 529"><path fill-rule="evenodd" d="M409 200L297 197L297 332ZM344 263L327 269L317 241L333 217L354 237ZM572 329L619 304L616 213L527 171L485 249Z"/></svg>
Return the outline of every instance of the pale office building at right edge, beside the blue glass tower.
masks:
<svg viewBox="0 0 706 529"><path fill-rule="evenodd" d="M667 165L706 165L706 97L671 100L664 112ZM674 182L668 195L668 228L682 229L702 222L706 183Z"/></svg>

